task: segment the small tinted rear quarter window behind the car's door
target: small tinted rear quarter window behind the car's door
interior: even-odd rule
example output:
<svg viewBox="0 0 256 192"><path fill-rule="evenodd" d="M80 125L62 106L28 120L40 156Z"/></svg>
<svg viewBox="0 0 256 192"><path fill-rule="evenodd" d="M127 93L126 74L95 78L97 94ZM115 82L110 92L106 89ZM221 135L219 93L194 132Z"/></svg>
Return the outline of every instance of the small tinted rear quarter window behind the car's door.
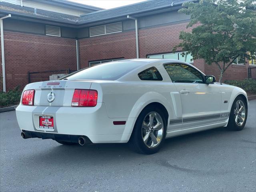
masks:
<svg viewBox="0 0 256 192"><path fill-rule="evenodd" d="M147 81L162 81L163 78L160 74L160 72L155 67L150 67L138 74L139 78L141 80L147 80Z"/></svg>

